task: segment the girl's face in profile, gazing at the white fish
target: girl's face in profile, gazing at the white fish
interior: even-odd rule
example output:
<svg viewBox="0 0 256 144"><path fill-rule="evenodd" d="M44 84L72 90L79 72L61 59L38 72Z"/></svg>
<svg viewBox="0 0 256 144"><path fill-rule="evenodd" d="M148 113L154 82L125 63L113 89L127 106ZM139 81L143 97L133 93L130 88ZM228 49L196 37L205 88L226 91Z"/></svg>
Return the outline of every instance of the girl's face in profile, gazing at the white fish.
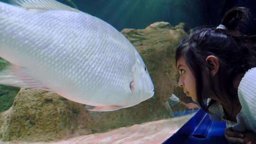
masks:
<svg viewBox="0 0 256 144"><path fill-rule="evenodd" d="M178 59L176 66L180 74L179 87L182 87L183 92L197 102L196 81L183 56Z"/></svg>

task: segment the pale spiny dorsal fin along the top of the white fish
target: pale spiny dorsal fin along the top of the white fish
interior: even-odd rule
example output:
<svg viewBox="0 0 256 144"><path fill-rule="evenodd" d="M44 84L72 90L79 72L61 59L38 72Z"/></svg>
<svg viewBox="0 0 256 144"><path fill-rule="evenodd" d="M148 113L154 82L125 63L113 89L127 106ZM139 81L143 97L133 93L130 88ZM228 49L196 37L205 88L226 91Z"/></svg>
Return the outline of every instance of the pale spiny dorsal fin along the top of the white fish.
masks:
<svg viewBox="0 0 256 144"><path fill-rule="evenodd" d="M68 10L81 12L78 9L71 8L56 0L10 0L10 3L18 5L24 9Z"/></svg>

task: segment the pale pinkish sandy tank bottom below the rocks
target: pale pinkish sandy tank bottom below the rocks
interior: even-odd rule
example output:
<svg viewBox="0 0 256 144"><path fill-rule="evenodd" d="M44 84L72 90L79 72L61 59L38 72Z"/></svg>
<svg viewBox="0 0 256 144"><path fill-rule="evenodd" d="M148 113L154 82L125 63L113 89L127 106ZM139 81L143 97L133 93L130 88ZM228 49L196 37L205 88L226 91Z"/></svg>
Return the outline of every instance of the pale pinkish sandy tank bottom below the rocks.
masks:
<svg viewBox="0 0 256 144"><path fill-rule="evenodd" d="M129 127L121 127L106 133L82 135L56 142L2 142L0 144L161 144L183 126L191 117L146 122Z"/></svg>

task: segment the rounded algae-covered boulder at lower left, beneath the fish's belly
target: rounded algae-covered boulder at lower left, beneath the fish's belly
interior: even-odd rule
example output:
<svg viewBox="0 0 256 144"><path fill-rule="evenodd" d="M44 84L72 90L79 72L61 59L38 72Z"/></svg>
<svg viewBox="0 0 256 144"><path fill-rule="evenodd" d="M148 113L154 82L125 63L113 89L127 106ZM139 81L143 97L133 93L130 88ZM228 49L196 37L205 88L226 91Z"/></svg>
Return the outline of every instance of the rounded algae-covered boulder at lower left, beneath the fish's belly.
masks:
<svg viewBox="0 0 256 144"><path fill-rule="evenodd" d="M69 109L67 101L56 93L21 89L0 129L0 137L6 141L47 141L64 136L75 123L75 110Z"/></svg>

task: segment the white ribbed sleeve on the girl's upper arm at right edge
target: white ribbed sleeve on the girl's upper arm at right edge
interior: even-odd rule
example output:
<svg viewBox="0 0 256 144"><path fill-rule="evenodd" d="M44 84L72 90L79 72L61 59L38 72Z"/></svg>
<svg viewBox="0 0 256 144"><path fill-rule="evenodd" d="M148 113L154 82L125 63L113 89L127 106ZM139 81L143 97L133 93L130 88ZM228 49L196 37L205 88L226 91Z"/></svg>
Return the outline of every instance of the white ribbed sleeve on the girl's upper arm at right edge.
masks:
<svg viewBox="0 0 256 144"><path fill-rule="evenodd" d="M250 69L238 86L240 111L248 130L256 133L256 68Z"/></svg>

